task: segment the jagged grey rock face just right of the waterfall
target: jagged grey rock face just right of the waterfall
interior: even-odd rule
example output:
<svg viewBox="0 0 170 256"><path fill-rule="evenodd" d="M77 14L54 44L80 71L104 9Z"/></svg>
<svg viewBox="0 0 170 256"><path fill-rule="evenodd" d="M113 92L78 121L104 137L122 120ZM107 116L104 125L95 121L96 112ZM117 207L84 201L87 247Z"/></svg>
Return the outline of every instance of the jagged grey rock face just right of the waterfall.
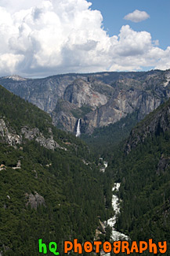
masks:
<svg viewBox="0 0 170 256"><path fill-rule="evenodd" d="M94 128L114 124L121 117L125 117L136 109L139 109L138 118L141 120L160 104L161 98L147 95L144 91L116 91L106 105L85 116L84 121L87 126L87 132L90 133Z"/></svg>

